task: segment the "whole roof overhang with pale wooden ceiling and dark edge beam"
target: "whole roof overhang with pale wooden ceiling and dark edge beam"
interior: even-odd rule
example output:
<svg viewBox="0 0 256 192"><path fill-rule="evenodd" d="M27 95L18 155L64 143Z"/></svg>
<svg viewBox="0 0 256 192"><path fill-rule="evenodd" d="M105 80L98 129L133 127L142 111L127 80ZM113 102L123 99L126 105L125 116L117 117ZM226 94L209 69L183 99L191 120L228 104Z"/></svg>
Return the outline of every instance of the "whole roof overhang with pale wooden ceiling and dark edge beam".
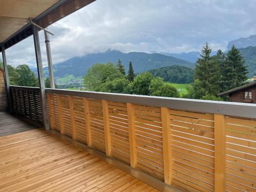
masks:
<svg viewBox="0 0 256 192"><path fill-rule="evenodd" d="M43 28L96 0L2 0L0 43L5 49L33 34L29 18ZM0 52L2 48L0 47Z"/></svg>

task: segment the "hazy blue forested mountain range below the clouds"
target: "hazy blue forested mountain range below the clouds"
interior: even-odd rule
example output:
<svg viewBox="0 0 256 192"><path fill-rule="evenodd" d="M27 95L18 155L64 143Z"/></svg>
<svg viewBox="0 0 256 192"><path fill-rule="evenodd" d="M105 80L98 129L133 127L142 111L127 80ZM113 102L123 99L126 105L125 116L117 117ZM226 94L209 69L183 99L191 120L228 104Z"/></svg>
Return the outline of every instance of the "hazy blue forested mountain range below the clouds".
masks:
<svg viewBox="0 0 256 192"><path fill-rule="evenodd" d="M237 46L241 51L241 54L244 56L246 61L245 65L248 66L248 77L256 75L256 35L232 40L228 43L227 49L231 47L231 45ZM250 47L248 47L248 45ZM216 54L216 51L212 52L212 55L214 54ZM53 65L53 69L55 78L60 79L69 76L68 79L70 80L72 78L81 79L81 77L86 74L86 71L97 62L117 63L118 59L120 59L127 72L129 69L129 62L132 61L134 72L141 73L152 69L174 65L194 68L195 62L199 56L199 52L153 52L149 54L144 52L122 53L116 50L109 50L104 53L91 53L82 57L70 58L64 62ZM32 71L36 72L36 68L32 68ZM48 67L44 68L44 73L46 77L49 76Z"/></svg>

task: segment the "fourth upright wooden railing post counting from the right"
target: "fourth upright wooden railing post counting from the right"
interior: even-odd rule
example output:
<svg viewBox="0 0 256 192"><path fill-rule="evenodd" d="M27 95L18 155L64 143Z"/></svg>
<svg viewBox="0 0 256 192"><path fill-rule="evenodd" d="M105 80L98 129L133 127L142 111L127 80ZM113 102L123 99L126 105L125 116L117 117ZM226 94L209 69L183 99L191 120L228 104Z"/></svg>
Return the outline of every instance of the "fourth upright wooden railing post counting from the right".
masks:
<svg viewBox="0 0 256 192"><path fill-rule="evenodd" d="M108 101L102 99L106 155L111 156L110 119Z"/></svg>

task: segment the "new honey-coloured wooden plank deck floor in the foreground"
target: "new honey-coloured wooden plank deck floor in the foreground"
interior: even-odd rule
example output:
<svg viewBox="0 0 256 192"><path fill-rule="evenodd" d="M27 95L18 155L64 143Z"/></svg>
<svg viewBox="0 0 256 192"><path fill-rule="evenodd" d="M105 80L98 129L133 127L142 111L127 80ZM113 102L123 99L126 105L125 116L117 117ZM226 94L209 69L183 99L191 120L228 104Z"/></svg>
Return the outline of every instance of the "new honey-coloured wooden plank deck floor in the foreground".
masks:
<svg viewBox="0 0 256 192"><path fill-rule="evenodd" d="M50 132L0 137L0 191L158 191Z"/></svg>

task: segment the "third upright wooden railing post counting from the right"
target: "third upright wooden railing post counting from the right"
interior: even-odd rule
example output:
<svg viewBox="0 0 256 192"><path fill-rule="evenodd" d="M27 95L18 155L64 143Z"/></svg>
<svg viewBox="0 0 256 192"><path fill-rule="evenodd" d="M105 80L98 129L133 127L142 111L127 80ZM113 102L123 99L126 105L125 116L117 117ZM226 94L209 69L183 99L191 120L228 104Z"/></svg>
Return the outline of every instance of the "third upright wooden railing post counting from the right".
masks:
<svg viewBox="0 0 256 192"><path fill-rule="evenodd" d="M135 168L137 165L137 153L135 140L134 106L132 103L126 103L126 107L129 127L130 163L131 167Z"/></svg>

